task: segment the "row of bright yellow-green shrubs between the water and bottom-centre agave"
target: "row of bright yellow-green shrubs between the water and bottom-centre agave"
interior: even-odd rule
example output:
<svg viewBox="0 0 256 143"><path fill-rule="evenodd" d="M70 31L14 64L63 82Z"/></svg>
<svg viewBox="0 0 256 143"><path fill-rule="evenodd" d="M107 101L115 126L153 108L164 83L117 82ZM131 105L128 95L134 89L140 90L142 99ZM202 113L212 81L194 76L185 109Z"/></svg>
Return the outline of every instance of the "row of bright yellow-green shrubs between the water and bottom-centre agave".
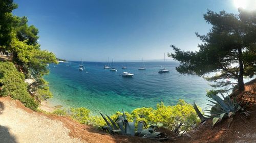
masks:
<svg viewBox="0 0 256 143"><path fill-rule="evenodd" d="M90 110L86 108L72 108L71 117L81 124L89 124L96 127L103 127L106 125L105 121L99 116L90 115ZM163 102L157 104L156 109L153 108L136 108L131 113L124 112L127 121L135 121L137 126L139 121L144 121L147 125L159 125L170 130L175 130L181 123L177 132L186 132L192 128L193 125L200 122L193 105L187 104L184 100L179 100L177 105L165 106ZM122 116L123 113L117 111L110 116L111 119L116 120Z"/></svg>

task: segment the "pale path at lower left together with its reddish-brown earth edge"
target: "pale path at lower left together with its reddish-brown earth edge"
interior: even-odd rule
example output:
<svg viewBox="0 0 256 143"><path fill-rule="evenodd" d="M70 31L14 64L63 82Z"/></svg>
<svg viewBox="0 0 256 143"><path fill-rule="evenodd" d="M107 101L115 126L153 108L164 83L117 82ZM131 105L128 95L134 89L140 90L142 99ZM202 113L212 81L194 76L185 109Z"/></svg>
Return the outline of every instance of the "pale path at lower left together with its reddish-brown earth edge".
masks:
<svg viewBox="0 0 256 143"><path fill-rule="evenodd" d="M35 112L20 101L0 97L0 143L156 143L149 139L112 136L69 117Z"/></svg>

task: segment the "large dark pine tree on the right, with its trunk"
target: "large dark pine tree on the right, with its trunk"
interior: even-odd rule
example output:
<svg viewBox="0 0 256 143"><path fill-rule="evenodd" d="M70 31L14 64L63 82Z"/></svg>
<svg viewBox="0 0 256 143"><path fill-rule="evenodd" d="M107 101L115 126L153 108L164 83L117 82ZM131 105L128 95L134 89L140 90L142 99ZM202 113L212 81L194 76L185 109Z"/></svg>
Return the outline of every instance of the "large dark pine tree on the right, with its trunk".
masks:
<svg viewBox="0 0 256 143"><path fill-rule="evenodd" d="M256 12L239 9L239 15L235 15L208 10L204 19L212 28L206 35L196 33L203 42L198 45L199 51L182 51L171 45L175 53L168 55L181 63L176 70L199 76L220 72L206 78L217 82L213 87L237 84L218 80L234 78L238 80L239 90L244 90L243 76L252 77L256 72Z"/></svg>

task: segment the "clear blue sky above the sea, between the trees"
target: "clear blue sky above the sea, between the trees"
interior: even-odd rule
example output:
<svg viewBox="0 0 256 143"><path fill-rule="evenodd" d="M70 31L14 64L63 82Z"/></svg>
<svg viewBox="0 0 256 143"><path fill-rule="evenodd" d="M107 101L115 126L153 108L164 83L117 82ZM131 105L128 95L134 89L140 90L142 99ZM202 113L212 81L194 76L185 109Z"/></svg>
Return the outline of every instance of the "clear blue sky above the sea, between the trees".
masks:
<svg viewBox="0 0 256 143"><path fill-rule="evenodd" d="M235 0L14 0L14 15L39 29L41 49L79 61L163 59L170 44L198 50L207 9L238 13Z"/></svg>

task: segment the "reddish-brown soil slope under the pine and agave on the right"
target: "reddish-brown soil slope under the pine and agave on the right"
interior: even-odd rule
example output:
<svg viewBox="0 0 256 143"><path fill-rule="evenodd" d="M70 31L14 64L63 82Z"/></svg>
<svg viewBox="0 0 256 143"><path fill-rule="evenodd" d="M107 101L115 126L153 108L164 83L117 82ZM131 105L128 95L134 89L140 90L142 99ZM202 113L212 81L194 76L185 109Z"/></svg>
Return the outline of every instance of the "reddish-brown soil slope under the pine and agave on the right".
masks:
<svg viewBox="0 0 256 143"><path fill-rule="evenodd" d="M223 120L211 130L212 121L208 120L198 129L188 132L189 137L177 138L175 142L256 142L256 79L245 84L245 91L235 91L231 96L249 102L246 108L250 117L237 113L228 128L229 120Z"/></svg>

